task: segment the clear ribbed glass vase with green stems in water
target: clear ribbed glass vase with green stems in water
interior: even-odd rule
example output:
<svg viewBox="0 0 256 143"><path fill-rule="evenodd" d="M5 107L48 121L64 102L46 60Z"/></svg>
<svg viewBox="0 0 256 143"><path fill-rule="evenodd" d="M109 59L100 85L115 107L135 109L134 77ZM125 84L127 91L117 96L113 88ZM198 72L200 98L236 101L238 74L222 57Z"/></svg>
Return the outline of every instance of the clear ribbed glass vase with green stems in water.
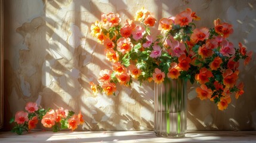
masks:
<svg viewBox="0 0 256 143"><path fill-rule="evenodd" d="M183 137L187 129L187 82L182 79L165 79L155 83L156 136Z"/></svg>

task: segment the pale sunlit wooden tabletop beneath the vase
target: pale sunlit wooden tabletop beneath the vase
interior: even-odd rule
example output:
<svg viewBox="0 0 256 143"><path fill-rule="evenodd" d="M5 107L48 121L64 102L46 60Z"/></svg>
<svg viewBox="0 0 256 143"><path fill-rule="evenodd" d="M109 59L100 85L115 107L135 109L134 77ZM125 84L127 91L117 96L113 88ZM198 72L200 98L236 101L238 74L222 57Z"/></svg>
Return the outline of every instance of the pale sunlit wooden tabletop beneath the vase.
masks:
<svg viewBox="0 0 256 143"><path fill-rule="evenodd" d="M189 131L184 138L159 138L152 131L0 132L0 142L256 142L256 131Z"/></svg>

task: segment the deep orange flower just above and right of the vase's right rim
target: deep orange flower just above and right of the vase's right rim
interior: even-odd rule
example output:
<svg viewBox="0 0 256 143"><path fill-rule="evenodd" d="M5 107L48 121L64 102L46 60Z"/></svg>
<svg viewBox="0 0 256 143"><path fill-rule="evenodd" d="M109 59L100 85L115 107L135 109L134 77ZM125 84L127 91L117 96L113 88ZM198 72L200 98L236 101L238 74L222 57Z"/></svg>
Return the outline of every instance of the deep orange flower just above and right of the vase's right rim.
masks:
<svg viewBox="0 0 256 143"><path fill-rule="evenodd" d="M205 84L206 82L209 82L209 77L212 77L211 71L207 70L205 67L199 70L199 73L196 74L195 79L200 84Z"/></svg>

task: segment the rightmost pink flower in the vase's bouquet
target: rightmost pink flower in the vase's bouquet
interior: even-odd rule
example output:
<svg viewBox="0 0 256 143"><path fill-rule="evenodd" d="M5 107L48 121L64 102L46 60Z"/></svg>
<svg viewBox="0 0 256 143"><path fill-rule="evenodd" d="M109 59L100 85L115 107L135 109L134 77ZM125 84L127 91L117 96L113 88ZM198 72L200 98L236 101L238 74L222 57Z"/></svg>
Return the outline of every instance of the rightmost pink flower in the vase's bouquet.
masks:
<svg viewBox="0 0 256 143"><path fill-rule="evenodd" d="M223 54L226 57L230 57L235 54L235 48L233 46L233 43L224 40L221 43L220 53Z"/></svg>

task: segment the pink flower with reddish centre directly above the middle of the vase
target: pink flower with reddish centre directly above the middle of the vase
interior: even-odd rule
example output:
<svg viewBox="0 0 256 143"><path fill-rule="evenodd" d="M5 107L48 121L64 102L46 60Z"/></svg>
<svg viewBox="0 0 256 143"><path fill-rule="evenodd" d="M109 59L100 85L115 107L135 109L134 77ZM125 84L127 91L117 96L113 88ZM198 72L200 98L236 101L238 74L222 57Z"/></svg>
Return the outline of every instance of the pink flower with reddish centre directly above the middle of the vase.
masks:
<svg viewBox="0 0 256 143"><path fill-rule="evenodd" d="M185 54L185 45L184 43L180 43L178 41L174 41L171 43L171 49L169 50L169 54L173 57L180 57L180 55Z"/></svg>

